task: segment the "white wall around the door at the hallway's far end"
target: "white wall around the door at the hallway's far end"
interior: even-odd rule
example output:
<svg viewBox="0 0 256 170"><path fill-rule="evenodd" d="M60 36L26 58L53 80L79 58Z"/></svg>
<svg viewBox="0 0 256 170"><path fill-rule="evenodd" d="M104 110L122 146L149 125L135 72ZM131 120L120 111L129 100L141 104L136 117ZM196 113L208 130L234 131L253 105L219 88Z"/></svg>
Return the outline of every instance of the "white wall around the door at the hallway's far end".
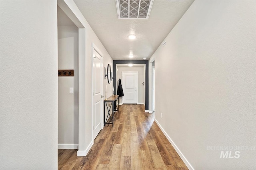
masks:
<svg viewBox="0 0 256 170"><path fill-rule="evenodd" d="M119 85L119 78L122 80L121 83L123 82L122 79L122 71L138 71L138 103L143 104L144 103L144 98L145 98L145 93L144 93L144 86L142 84L142 82L144 81L144 76L145 76L145 72L144 72L144 67L122 67L119 66L118 67L118 71L116 72L116 87L118 87ZM122 84L123 86L123 84ZM120 97L120 103L122 104L122 97Z"/></svg>

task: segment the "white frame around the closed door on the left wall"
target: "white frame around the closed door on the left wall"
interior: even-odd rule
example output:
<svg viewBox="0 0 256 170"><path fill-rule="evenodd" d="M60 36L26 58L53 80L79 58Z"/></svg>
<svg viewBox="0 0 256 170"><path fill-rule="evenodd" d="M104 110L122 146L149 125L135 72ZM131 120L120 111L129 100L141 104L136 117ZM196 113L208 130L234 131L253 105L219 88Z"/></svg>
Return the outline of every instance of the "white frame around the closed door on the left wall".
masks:
<svg viewBox="0 0 256 170"><path fill-rule="evenodd" d="M92 43L92 79L93 79L93 50L95 50L100 56L101 56L101 81L100 81L100 86L101 86L101 96L103 95L103 55L102 55L102 52L100 51L100 49L98 49L98 47L94 44L94 43ZM101 106L101 108L100 108L100 110L101 110L101 129L103 129L103 127L104 127L104 121L103 121L103 98L101 98L101 100L100 100L100 102L101 102L101 104L100 104L100 106ZM93 81L92 81L92 139L93 139ZM94 143L94 139L92 140L92 143Z"/></svg>

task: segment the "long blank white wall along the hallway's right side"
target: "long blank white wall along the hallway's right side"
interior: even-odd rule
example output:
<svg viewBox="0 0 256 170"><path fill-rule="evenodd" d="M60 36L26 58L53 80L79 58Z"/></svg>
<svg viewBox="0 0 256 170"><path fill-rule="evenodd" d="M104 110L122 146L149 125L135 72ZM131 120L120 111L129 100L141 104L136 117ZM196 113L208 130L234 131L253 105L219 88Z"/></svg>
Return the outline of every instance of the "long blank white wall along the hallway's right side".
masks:
<svg viewBox="0 0 256 170"><path fill-rule="evenodd" d="M195 169L256 168L255 150L236 149L256 141L255 5L195 1L152 56L155 118Z"/></svg>

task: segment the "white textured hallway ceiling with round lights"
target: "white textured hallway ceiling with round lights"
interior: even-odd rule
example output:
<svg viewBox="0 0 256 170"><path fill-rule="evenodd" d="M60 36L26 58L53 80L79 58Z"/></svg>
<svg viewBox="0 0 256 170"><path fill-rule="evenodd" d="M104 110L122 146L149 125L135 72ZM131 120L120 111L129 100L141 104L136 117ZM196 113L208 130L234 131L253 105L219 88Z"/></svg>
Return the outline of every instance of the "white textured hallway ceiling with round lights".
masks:
<svg viewBox="0 0 256 170"><path fill-rule="evenodd" d="M74 2L113 60L142 60L152 56L193 0L154 0L148 20L119 20L115 0ZM128 39L130 34L136 39Z"/></svg>

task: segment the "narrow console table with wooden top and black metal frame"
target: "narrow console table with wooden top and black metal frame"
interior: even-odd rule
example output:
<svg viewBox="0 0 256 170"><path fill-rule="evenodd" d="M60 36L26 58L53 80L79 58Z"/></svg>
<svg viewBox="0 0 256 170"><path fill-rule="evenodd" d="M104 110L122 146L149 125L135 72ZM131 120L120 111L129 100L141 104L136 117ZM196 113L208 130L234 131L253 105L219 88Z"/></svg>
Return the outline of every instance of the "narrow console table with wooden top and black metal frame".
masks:
<svg viewBox="0 0 256 170"><path fill-rule="evenodd" d="M114 101L117 101L118 99L118 107L116 106L116 109L114 109ZM108 103L110 103L110 106L108 106ZM108 109L108 115L107 115L107 118L105 119L105 110L106 110L106 107ZM110 116L110 109L111 109L111 106L112 106L112 116ZM104 126L106 124L112 124L112 126L114 126L114 114L115 112L118 111L119 112L119 95L112 95L110 96L109 98L105 99L104 100ZM108 121L108 116L109 116L109 119L110 119L110 122L107 123Z"/></svg>

